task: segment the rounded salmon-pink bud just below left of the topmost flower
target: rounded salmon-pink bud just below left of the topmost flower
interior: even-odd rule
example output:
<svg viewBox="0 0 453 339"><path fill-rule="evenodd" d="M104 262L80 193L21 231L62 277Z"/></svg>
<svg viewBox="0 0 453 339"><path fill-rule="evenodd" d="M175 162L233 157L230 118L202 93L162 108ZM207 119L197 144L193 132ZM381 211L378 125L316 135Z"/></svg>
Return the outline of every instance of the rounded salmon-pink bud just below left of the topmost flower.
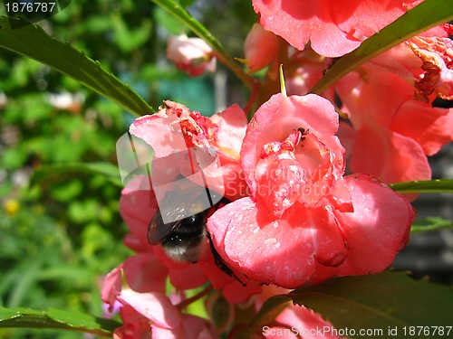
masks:
<svg viewBox="0 0 453 339"><path fill-rule="evenodd" d="M276 67L277 52L278 38L275 34L265 31L261 24L254 24L244 42L244 55L249 71L260 71L273 62Z"/></svg>

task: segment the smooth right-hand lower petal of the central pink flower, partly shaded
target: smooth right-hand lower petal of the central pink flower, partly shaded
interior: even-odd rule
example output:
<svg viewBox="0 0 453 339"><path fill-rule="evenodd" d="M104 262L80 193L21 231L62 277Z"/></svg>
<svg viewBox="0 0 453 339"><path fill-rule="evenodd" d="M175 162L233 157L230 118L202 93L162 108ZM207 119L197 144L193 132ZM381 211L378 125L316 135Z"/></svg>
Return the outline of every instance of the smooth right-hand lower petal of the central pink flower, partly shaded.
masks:
<svg viewBox="0 0 453 339"><path fill-rule="evenodd" d="M341 276L381 272L409 240L415 210L400 194L369 175L344 178L352 193L353 213L334 211L348 241Z"/></svg>

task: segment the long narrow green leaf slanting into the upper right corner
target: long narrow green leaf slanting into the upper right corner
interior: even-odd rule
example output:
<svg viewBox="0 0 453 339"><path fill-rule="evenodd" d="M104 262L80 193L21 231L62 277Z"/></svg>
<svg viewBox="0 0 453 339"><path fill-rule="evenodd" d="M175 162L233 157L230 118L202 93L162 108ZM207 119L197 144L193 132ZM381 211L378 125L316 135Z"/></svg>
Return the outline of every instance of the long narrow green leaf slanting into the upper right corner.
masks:
<svg viewBox="0 0 453 339"><path fill-rule="evenodd" d="M391 47L410 39L412 36L429 30L439 24L453 20L451 0L425 0L400 16L395 22L384 27L361 43L361 46L344 55L325 72L322 80L314 85L311 92L321 94L333 83L363 62L369 61Z"/></svg>

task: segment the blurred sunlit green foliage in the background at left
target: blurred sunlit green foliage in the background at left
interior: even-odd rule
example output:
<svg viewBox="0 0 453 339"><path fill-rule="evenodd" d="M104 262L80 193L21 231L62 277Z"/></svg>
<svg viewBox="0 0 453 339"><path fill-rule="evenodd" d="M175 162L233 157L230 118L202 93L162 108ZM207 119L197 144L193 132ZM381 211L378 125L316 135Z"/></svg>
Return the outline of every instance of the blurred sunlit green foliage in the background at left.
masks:
<svg viewBox="0 0 453 339"><path fill-rule="evenodd" d="M255 21L250 3L181 1L235 57ZM214 75L190 79L166 60L169 33L184 28L150 1L72 0L39 24L154 108L172 99L215 113ZM244 101L244 88L224 72L227 101ZM0 306L102 315L101 279L130 254L115 144L133 118L49 67L0 50ZM89 336L0 329L8 339L81 337Z"/></svg>

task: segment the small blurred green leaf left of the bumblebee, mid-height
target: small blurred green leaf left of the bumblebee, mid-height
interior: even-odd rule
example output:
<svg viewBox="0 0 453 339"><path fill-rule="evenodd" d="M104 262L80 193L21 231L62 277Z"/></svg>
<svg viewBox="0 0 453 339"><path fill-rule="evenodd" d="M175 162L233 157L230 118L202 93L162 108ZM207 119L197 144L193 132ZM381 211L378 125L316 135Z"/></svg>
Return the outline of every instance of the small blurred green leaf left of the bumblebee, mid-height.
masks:
<svg viewBox="0 0 453 339"><path fill-rule="evenodd" d="M42 183L52 177L67 174L68 172L76 172L82 174L101 174L106 176L111 184L122 187L120 179L120 170L117 165L110 163L62 163L53 165L43 165L37 168L30 180L30 186Z"/></svg>

